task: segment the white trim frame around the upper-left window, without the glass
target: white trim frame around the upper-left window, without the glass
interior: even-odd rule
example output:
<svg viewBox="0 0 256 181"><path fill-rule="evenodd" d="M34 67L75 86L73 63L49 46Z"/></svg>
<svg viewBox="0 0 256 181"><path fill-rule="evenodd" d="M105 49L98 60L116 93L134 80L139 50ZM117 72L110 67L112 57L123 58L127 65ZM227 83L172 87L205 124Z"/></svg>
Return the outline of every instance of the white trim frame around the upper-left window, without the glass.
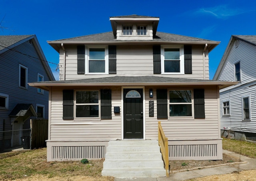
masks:
<svg viewBox="0 0 256 181"><path fill-rule="evenodd" d="M105 49L105 72L98 72L98 73L89 73L89 61L90 61L90 48L104 48ZM89 46L85 47L85 74L86 75L108 75L108 46Z"/></svg>

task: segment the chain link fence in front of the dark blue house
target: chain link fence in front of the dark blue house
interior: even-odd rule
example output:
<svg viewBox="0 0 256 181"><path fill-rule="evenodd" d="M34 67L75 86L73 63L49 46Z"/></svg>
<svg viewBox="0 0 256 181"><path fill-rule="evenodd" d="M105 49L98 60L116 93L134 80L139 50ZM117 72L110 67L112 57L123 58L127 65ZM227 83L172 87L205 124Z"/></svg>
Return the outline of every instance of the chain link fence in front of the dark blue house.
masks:
<svg viewBox="0 0 256 181"><path fill-rule="evenodd" d="M30 148L31 129L0 132L0 159L30 150Z"/></svg>

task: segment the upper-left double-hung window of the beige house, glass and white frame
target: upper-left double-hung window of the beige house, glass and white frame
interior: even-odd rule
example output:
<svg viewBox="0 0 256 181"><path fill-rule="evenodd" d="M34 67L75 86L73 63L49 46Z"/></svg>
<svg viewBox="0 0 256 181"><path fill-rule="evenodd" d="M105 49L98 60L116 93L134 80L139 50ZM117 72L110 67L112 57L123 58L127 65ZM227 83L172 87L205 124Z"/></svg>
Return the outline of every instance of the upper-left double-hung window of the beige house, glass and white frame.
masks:
<svg viewBox="0 0 256 181"><path fill-rule="evenodd" d="M108 72L108 50L106 48L88 49L88 69L87 73L107 73Z"/></svg>

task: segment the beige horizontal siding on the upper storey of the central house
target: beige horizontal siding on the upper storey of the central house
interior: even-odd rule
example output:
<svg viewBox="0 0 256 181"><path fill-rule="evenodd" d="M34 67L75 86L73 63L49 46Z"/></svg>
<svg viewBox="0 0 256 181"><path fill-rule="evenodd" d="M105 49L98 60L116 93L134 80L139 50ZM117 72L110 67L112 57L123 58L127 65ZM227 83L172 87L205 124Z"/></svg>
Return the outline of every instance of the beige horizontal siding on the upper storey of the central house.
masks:
<svg viewBox="0 0 256 181"><path fill-rule="evenodd" d="M192 74L184 75L157 75L153 70L152 45L118 45L116 46L116 74L114 75L78 75L76 45L66 45L66 80L86 79L98 77L112 77L116 75L154 75L162 77L179 77L188 79L209 79L209 58L206 50L203 64L202 45L192 46ZM204 68L205 66L205 68ZM60 49L60 80L64 74L64 52Z"/></svg>

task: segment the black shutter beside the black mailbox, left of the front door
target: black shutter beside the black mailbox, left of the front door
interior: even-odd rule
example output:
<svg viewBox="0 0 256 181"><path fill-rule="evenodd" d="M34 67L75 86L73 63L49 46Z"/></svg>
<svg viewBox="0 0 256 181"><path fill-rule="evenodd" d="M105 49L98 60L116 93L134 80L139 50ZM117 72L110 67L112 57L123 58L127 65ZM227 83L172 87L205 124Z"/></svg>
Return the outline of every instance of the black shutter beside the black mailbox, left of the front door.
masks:
<svg viewBox="0 0 256 181"><path fill-rule="evenodd" d="M111 89L100 90L100 117L111 119Z"/></svg>

